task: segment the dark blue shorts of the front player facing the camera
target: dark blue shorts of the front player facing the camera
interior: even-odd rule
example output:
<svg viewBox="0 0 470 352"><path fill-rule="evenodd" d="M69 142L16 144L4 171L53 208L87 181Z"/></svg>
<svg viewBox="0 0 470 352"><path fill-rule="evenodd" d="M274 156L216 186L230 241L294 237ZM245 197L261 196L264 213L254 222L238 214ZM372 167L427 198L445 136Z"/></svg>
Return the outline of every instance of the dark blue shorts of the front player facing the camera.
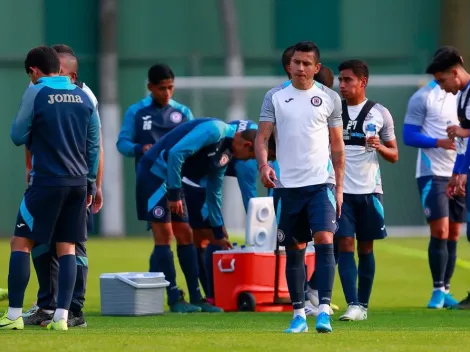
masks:
<svg viewBox="0 0 470 352"><path fill-rule="evenodd" d="M307 243L319 231L335 233L335 186L322 184L299 188L279 188L282 208L277 238L280 246Z"/></svg>

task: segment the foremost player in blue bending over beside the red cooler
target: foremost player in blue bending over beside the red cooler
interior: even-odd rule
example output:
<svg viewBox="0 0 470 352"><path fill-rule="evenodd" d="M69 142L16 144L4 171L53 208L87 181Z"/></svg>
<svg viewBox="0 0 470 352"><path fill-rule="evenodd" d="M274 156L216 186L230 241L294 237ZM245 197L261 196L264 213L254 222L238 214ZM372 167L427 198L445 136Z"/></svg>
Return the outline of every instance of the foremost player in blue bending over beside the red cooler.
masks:
<svg viewBox="0 0 470 352"><path fill-rule="evenodd" d="M203 300L199 292L195 255L180 257L180 262L193 271L188 282L191 303L183 301L176 286L170 243L177 231L191 231L182 178L197 184L205 183L207 217L213 231L211 243L223 249L231 247L221 215L223 177L232 157L238 160L254 158L255 134L253 130L237 132L235 125L217 119L200 118L168 132L139 162L138 218L151 223L155 238L153 271L163 272L170 282L167 294L171 311L213 311L213 306Z"/></svg>

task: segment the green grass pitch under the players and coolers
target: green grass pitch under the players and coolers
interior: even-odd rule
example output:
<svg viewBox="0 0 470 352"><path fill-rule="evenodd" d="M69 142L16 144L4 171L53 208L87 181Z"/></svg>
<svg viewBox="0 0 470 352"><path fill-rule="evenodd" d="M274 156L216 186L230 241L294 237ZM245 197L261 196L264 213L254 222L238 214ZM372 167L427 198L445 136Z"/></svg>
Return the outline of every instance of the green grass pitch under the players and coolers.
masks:
<svg viewBox="0 0 470 352"><path fill-rule="evenodd" d="M339 322L333 334L286 335L291 313L224 313L116 318L100 316L99 275L145 271L152 249L149 238L89 241L88 328L68 332L29 328L0 331L0 351L458 351L470 344L470 311L430 311L431 293L427 239L392 239L376 245L377 271L369 320ZM175 256L176 257L176 256ZM0 240L0 287L6 287L9 242ZM179 268L179 265L177 265ZM181 271L178 282L185 288ZM459 244L452 291L460 299L470 287L470 245ZM35 301L37 280L32 269L25 309ZM339 279L333 302L345 302ZM0 302L0 310L7 302Z"/></svg>

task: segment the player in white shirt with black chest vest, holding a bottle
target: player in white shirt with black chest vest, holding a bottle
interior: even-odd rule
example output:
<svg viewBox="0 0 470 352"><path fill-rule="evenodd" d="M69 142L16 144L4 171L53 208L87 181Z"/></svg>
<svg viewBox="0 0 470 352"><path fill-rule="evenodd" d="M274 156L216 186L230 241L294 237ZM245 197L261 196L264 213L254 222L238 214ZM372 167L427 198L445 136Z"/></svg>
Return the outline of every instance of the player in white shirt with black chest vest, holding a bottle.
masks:
<svg viewBox="0 0 470 352"><path fill-rule="evenodd" d="M340 94L344 98L346 171L344 203L335 236L339 239L338 273L348 304L340 320L365 320L375 274L374 241L387 236L377 154L395 163L398 148L390 112L366 98L367 65L348 60L338 69ZM373 131L373 135L367 136L367 131ZM354 259L354 237L359 267Z"/></svg>

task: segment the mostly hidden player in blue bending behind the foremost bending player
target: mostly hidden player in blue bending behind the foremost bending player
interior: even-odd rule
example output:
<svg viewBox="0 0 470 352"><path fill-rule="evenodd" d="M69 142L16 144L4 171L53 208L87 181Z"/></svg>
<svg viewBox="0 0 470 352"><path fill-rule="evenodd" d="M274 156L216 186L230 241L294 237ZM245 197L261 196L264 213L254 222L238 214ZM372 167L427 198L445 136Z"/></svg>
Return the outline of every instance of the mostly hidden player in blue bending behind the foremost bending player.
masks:
<svg viewBox="0 0 470 352"><path fill-rule="evenodd" d="M249 120L231 121L229 125L235 126L237 132L251 129L256 131L258 129L258 125ZM274 139L271 141L274 142ZM272 145L270 149L273 150L274 146ZM272 159L274 159L274 155L270 156L270 160ZM257 195L256 180L258 177L258 167L256 160L238 160L232 158L228 164L225 176L237 178L243 199L243 206L245 211L247 211L250 199ZM206 248L204 248L205 242L209 241L212 237L210 223L207 219L206 189L203 185L187 177L183 177L182 182L188 208L189 224L193 230L194 244L198 252L199 280L206 293L206 299L208 302L213 303L214 282L212 254L220 248L211 244L208 245L207 251Z"/></svg>

